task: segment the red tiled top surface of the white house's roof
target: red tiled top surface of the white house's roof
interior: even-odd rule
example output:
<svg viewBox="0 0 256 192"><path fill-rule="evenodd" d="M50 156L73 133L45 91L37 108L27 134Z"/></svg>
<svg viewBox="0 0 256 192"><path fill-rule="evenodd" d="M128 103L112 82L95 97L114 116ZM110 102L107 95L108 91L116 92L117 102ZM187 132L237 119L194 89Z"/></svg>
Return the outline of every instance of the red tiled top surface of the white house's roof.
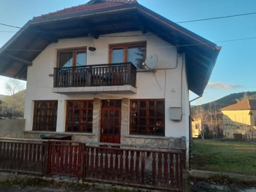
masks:
<svg viewBox="0 0 256 192"><path fill-rule="evenodd" d="M55 11L52 13L44 14L41 16L33 17L33 19L38 18L45 18L53 15L60 15L60 14L67 14L67 13L75 13L79 11L86 11L86 10L95 10L95 9L101 9L101 8L108 8L108 7L114 7L114 6L120 6L125 4L134 4L138 3L137 0L101 0L101 1L94 1L93 3L87 3L82 4L70 8L64 8L59 11Z"/></svg>

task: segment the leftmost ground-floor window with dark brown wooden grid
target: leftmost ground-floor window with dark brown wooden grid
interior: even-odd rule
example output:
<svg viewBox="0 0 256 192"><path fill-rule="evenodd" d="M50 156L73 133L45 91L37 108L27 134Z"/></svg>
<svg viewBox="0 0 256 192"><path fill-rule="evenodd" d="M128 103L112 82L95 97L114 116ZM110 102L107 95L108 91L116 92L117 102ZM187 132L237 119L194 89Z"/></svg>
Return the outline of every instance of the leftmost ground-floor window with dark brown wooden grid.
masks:
<svg viewBox="0 0 256 192"><path fill-rule="evenodd" d="M56 131L58 101L35 101L33 131Z"/></svg>

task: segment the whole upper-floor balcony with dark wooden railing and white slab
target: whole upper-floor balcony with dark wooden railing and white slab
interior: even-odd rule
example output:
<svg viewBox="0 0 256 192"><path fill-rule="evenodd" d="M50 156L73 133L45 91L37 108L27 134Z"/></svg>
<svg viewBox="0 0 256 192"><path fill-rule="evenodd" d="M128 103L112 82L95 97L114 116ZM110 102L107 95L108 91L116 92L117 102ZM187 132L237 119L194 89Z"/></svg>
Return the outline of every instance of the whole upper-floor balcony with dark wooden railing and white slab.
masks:
<svg viewBox="0 0 256 192"><path fill-rule="evenodd" d="M54 93L136 93L136 67L131 62L54 68Z"/></svg>

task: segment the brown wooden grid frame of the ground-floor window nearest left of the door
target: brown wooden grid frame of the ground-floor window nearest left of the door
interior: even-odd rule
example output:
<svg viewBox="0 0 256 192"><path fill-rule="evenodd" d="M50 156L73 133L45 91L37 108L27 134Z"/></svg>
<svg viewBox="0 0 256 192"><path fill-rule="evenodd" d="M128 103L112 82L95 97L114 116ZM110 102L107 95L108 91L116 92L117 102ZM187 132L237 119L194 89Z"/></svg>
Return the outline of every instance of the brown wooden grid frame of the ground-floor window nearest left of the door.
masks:
<svg viewBox="0 0 256 192"><path fill-rule="evenodd" d="M69 125L71 124L71 123L69 123L69 103L70 102L80 102L80 108L79 108L79 131L74 131L74 130L72 130L72 131L69 131ZM86 105L86 107L84 108L83 106L82 106L82 103L83 102L87 102L87 105ZM89 107L89 102L92 102L92 107ZM76 117L75 115L74 115L74 110L75 110L75 107L74 107L74 104L73 104L73 106L72 106L72 118L74 118L74 117ZM81 123L81 121L82 121L82 118L84 118L84 115L82 114L82 112L84 111L84 110L86 110L86 123L85 124L83 124L83 123ZM88 124L89 124L89 122L88 122L88 120L89 120L89 116L88 116L88 111L89 110L92 110L92 112L93 112L93 100L67 100L67 107L66 107L66 126L65 126L65 131L66 132L78 132L78 133L92 133L92 131L91 132L88 132L88 131L82 131L82 126L88 126ZM93 114L92 114L92 116L91 116L91 118L93 118ZM74 123L73 123L74 124ZM91 129L92 129L92 123L90 123L91 124ZM88 126L89 127L89 126ZM87 127L87 129L88 129L88 127Z"/></svg>

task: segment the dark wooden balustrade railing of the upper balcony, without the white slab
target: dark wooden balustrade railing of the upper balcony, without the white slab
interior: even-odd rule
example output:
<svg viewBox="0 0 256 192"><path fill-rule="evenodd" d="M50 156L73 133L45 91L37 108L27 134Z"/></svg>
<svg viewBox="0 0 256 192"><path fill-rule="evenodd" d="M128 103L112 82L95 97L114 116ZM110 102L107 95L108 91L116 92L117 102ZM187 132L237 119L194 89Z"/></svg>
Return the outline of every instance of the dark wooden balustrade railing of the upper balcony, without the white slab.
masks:
<svg viewBox="0 0 256 192"><path fill-rule="evenodd" d="M54 68L54 87L136 87L136 67L131 62Z"/></svg>

